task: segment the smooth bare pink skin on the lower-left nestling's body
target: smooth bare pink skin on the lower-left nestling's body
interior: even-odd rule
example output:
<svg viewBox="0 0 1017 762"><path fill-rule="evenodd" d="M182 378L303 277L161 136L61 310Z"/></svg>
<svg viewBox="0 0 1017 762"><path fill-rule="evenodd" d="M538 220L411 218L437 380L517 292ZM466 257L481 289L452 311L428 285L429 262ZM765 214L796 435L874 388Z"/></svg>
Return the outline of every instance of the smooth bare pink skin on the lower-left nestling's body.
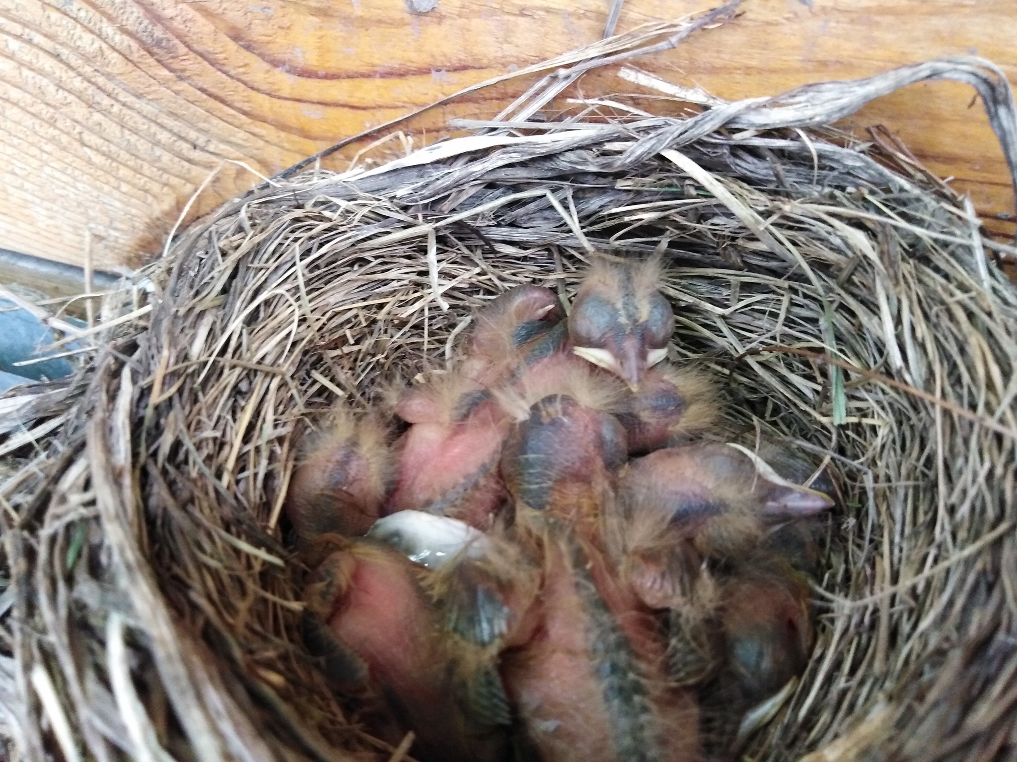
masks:
<svg viewBox="0 0 1017 762"><path fill-rule="evenodd" d="M504 734L495 728L469 732L459 709L450 677L452 654L421 590L421 567L395 550L354 544L319 568L319 576L331 574L321 583L327 586L318 601L325 610L322 619L367 666L374 712L388 717L372 725L374 732L398 743L412 729L417 741L411 753L421 760L499 760ZM313 600L314 593L309 597Z"/></svg>

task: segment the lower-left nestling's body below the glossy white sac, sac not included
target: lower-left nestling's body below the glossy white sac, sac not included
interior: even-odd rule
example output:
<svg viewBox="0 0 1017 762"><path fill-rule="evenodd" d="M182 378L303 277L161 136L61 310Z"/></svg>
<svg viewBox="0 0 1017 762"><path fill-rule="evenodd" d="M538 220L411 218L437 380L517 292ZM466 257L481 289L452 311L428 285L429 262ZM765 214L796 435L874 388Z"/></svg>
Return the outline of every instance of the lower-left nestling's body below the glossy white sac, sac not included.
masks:
<svg viewBox="0 0 1017 762"><path fill-rule="evenodd" d="M500 680L450 640L427 592L431 572L372 538L325 535L318 546L305 640L334 689L382 740L413 731L420 760L505 760L512 716Z"/></svg>

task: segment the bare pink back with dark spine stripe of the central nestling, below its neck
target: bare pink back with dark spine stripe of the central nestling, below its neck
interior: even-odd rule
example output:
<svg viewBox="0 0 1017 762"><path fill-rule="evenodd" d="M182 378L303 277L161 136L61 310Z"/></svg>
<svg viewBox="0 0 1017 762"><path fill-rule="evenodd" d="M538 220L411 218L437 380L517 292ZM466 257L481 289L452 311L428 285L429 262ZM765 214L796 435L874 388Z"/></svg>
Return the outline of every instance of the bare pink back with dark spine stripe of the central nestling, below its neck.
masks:
<svg viewBox="0 0 1017 762"><path fill-rule="evenodd" d="M503 655L530 743L543 762L622 762L636 750L647 760L699 759L695 701L667 687L653 621L613 583L603 558L582 547L570 560L563 545L548 541L538 624ZM616 662L613 677L603 677L605 660Z"/></svg>

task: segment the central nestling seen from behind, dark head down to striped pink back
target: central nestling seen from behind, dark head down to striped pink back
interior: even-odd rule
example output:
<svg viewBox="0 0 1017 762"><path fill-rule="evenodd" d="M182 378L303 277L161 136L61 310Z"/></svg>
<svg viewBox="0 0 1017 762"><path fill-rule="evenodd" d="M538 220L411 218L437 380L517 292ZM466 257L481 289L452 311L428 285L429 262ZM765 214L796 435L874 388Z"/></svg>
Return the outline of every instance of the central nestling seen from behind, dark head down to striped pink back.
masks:
<svg viewBox="0 0 1017 762"><path fill-rule="evenodd" d="M652 613L617 584L598 548L626 446L617 421L586 401L538 399L502 455L516 536L543 571L532 625L502 655L522 754L544 762L696 759L692 694L672 686Z"/></svg>

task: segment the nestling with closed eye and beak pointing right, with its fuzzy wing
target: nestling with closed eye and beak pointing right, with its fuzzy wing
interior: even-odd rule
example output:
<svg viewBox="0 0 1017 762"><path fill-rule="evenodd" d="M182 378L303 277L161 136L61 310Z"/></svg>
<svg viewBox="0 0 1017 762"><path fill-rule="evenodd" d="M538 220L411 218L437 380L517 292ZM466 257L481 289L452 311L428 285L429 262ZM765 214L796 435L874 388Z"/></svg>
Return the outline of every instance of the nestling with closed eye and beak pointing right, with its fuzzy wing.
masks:
<svg viewBox="0 0 1017 762"><path fill-rule="evenodd" d="M713 635L724 587L707 559L740 560L770 525L832 505L730 444L685 445L637 458L618 492L622 509L608 546L622 581L661 612L671 674L680 683L705 679L725 659Z"/></svg>

